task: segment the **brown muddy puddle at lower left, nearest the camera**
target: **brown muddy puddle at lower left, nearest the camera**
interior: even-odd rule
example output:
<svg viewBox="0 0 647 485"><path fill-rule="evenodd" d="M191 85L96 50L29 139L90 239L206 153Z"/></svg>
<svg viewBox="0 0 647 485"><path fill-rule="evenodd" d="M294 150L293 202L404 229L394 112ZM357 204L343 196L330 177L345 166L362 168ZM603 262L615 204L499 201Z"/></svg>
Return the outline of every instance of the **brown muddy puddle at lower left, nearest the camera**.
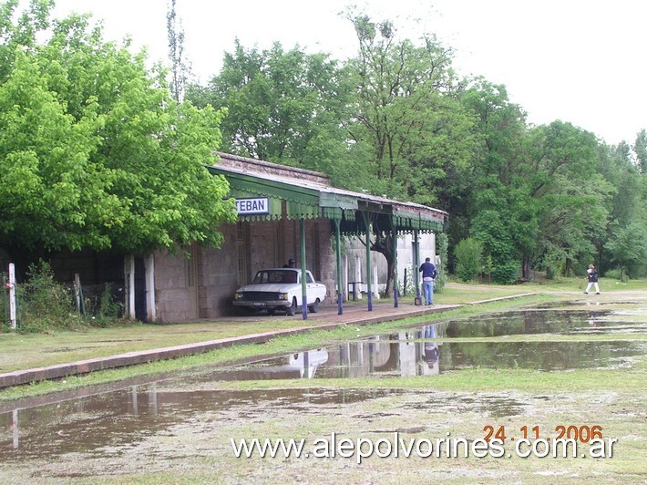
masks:
<svg viewBox="0 0 647 485"><path fill-rule="evenodd" d="M390 389L191 390L133 386L36 408L0 413L0 454L30 459L63 453L109 457L137 446L156 433L202 413L218 422L241 416L258 418L276 407L307 412L375 399L400 391ZM313 411L314 412L314 411Z"/></svg>

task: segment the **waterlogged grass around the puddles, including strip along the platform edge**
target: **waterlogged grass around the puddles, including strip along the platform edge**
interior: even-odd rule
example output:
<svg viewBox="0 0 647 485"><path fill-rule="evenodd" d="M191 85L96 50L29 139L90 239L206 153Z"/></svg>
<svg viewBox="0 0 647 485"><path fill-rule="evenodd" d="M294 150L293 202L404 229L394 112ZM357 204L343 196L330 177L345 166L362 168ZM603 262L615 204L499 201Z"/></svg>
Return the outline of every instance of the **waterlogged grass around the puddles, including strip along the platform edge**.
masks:
<svg viewBox="0 0 647 485"><path fill-rule="evenodd" d="M451 285L449 285L451 286ZM469 286L469 285L467 285ZM456 289L456 288L454 288ZM524 292L528 287L524 285ZM457 290L458 291L458 290ZM468 287L469 301L496 297L491 290L478 293ZM501 291L507 291L504 288ZM572 292L571 292L572 293ZM580 294L579 297L582 295ZM619 293L615 300L642 297ZM438 296L442 298L442 296ZM524 308L527 305L557 303L572 299L565 292L538 294L512 301L467 305L447 313L429 314L375 325L341 325L332 330L313 330L302 335L281 336L263 345L231 346L206 354L176 360L153 362L143 366L113 369L84 377L67 377L65 381L35 383L0 391L0 399L31 397L36 394L62 391L61 398L77 387L96 385L97 392L108 383L133 387L126 397L159 397L155 416L149 414L147 398L140 400L139 417L124 414L119 438L101 442L101 449L78 449L56 456L30 457L20 460L9 454L0 463L0 481L74 480L78 483L213 483L259 482L276 483L408 483L436 480L443 483L543 483L560 481L615 481L644 483L645 382L647 357L634 357L632 366L618 369L578 369L541 372L527 368L463 368L434 377L365 377L354 379L321 378L264 381L211 381L207 378L214 367L249 361L263 356L282 356L300 350L363 338L388 335L408 327L446 320L461 319L461 325L478 322L486 314ZM466 300L467 301L467 300ZM436 301L437 302L437 301ZM446 303L446 302L442 302ZM468 301L467 301L468 303ZM598 303L598 301L596 301ZM605 304L613 303L607 300ZM552 306L552 305L551 305ZM566 307L566 305L564 306ZM594 307L621 308L621 304ZM632 308L637 306L632 304ZM642 308L644 305L641 306ZM570 307L582 310L584 305ZM490 316L490 315L488 315ZM640 315L630 316L642 322ZM626 320L625 320L626 321ZM294 325L294 321L290 322ZM272 320L272 324L276 321ZM209 324L204 335L211 332ZM223 327L230 325L224 323ZM233 325L233 324L231 324ZM145 328L151 325L143 325ZM167 338L185 338L183 325L160 325ZM194 327L194 328L196 328ZM249 333L250 325L244 329ZM133 327L138 335L142 328ZM190 325L187 326L187 329ZM254 331L257 329L254 328ZM173 334L177 331L177 334ZM128 332L127 332L128 333ZM97 334L101 336L108 334ZM118 338L117 334L109 334ZM198 335L199 340L204 335ZM128 338L128 337L127 337ZM607 342L644 341L645 335L510 335L501 337L444 338L458 342ZM89 342L89 341L88 341ZM167 346L170 342L167 342ZM482 362L479 360L479 362ZM155 387L135 390L128 379L146 383L160 380ZM122 379L126 379L123 380ZM88 393L94 389L87 389ZM123 394L123 393L122 393ZM56 397L53 396L53 397ZM110 396L111 397L111 396ZM123 397L123 396L122 396ZM343 397L343 399L339 399ZM108 397L105 397L108 399ZM69 403L67 403L69 404ZM118 403L115 403L118 406ZM13 406L13 404L12 404ZM62 404L66 409L66 404ZM128 406L131 406L129 404ZM66 414L69 422L87 419L89 410ZM82 407L81 407L82 408ZM129 409L129 408L128 408ZM63 414L62 411L57 411ZM27 415L28 416L28 415ZM22 415L21 415L22 418ZM76 421L75 421L76 420ZM27 424L27 420L21 423ZM156 426L159 424L159 427ZM94 426L93 422L91 425ZM438 439L451 436L473 442L483 439L486 427L505 426L509 437L520 437L520 429L541 429L541 437L556 437L564 427L602 429L604 438L618 439L612 459L539 459L530 457L447 459L419 457L371 457L358 465L354 459L260 458L237 459L231 450L231 439L314 439L335 433L344 439L392 439L398 433L403 439ZM140 428L138 428L140 427ZM129 438L129 439L128 439ZM125 440L128 439L128 440ZM70 439L70 441L73 441ZM83 446L85 442L82 443ZM506 448L514 444L507 441ZM98 451L99 450L99 451Z"/></svg>

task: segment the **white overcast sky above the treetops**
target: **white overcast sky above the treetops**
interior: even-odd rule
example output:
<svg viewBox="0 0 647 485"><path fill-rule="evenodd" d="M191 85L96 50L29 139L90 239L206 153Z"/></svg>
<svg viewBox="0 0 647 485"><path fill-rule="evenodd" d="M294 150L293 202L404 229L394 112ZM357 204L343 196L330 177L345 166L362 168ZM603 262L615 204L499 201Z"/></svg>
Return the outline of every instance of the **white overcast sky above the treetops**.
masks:
<svg viewBox="0 0 647 485"><path fill-rule="evenodd" d="M647 129L647 2L642 0L176 0L186 57L205 83L235 37L242 46L279 41L308 52L354 55L356 37L339 12L357 4L375 20L395 20L400 36L425 30L456 49L454 67L504 84L539 125L555 119L607 143L633 143ZM168 62L168 0L57 0L104 20L108 39L132 36L138 50ZM366 6L367 5L367 6ZM418 18L421 25L411 20Z"/></svg>

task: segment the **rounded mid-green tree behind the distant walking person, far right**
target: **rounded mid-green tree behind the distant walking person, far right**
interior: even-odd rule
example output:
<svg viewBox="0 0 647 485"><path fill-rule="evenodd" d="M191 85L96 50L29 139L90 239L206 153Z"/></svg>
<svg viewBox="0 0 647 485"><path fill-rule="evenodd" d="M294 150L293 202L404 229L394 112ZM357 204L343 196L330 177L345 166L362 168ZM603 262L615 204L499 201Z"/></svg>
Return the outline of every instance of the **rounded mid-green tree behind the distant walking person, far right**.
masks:
<svg viewBox="0 0 647 485"><path fill-rule="evenodd" d="M529 164L521 172L537 201L537 244L524 253L545 267L545 256L560 254L566 273L572 263L590 261L609 219L613 187L601 176L600 144L588 131L553 123L529 134Z"/></svg>

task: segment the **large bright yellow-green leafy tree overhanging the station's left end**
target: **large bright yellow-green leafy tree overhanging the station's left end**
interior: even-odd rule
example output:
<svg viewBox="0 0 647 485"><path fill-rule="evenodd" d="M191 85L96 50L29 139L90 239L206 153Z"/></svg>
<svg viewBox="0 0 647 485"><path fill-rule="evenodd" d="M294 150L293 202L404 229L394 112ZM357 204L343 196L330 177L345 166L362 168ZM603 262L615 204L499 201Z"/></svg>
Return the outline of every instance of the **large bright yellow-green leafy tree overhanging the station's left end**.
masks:
<svg viewBox="0 0 647 485"><path fill-rule="evenodd" d="M222 113L178 104L144 53L104 42L87 16L0 10L0 244L30 250L148 252L221 243L235 217L211 176ZM48 31L44 31L48 27ZM29 32L30 35L25 33ZM36 37L46 36L36 44ZM27 44L21 44L26 42Z"/></svg>

